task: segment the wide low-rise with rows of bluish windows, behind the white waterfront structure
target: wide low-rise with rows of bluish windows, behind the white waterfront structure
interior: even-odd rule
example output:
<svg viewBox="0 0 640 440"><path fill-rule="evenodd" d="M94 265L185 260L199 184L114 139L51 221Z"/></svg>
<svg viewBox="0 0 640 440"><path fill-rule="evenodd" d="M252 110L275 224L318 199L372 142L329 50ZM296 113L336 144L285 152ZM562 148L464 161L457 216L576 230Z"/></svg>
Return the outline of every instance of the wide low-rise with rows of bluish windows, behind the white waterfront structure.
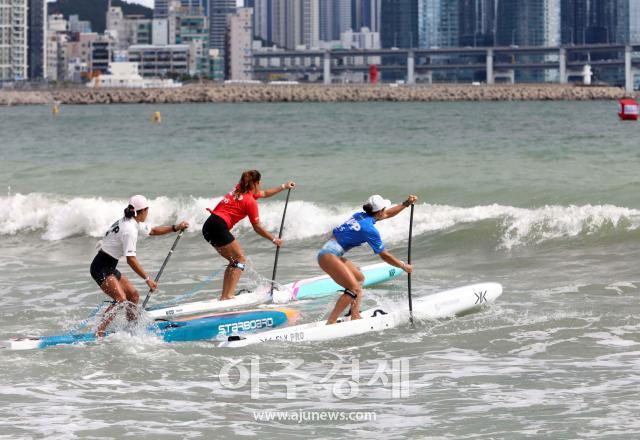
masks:
<svg viewBox="0 0 640 440"><path fill-rule="evenodd" d="M191 76L196 73L192 45L134 45L129 47L129 61L138 63L145 78Z"/></svg>

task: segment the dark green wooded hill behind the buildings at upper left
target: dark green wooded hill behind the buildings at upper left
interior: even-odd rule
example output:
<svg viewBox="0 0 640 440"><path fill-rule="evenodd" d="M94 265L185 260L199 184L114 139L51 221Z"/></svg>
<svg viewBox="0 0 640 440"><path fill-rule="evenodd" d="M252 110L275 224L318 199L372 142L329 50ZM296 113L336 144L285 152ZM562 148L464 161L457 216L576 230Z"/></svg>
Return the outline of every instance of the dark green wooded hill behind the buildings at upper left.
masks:
<svg viewBox="0 0 640 440"><path fill-rule="evenodd" d="M68 19L70 15L79 15L80 20L91 22L93 32L104 32L108 0L57 0L49 3L49 14L62 14ZM153 17L153 9L122 0L111 0L111 6L122 8L124 15L144 15Z"/></svg>

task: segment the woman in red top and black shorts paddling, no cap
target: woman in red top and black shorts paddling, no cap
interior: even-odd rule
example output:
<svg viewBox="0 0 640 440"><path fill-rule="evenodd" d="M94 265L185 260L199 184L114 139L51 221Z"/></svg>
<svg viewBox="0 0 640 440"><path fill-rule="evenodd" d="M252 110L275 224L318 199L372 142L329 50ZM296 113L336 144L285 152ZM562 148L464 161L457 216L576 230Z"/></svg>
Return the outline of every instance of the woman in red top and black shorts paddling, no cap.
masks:
<svg viewBox="0 0 640 440"><path fill-rule="evenodd" d="M248 216L253 230L258 235L272 241L276 246L282 245L282 240L260 224L257 199L274 196L286 188L293 188L295 183L289 181L277 188L262 190L260 188L261 178L262 176L257 170L242 173L240 182L235 189L225 195L213 210L208 209L211 215L202 226L204 239L229 261L224 272L221 300L234 297L236 286L247 260L240 243L231 234L231 229L236 223Z"/></svg>

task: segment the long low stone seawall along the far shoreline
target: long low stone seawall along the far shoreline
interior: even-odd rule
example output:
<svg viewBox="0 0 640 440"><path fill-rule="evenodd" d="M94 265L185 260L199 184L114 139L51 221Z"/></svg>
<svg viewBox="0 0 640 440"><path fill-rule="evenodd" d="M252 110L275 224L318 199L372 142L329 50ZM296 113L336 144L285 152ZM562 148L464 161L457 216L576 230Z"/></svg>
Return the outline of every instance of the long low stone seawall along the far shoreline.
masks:
<svg viewBox="0 0 640 440"><path fill-rule="evenodd" d="M623 88L518 85L187 85L175 89L0 90L0 105L181 104L231 102L588 101L625 96Z"/></svg>

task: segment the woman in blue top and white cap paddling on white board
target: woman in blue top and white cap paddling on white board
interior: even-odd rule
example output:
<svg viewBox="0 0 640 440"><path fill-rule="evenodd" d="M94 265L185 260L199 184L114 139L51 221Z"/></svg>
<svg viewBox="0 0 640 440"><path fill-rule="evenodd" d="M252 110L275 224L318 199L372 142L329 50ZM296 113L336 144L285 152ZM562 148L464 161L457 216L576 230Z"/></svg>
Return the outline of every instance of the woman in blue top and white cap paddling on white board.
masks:
<svg viewBox="0 0 640 440"><path fill-rule="evenodd" d="M362 207L364 212L353 214L349 220L333 230L331 239L318 252L318 264L336 283L344 287L344 294L338 299L327 324L334 324L348 305L351 305L351 319L360 319L364 275L355 264L344 258L349 249L368 243L382 260L411 273L410 264L397 259L384 248L375 223L396 216L416 200L416 196L410 195L401 204L391 207L391 201L376 194L369 197Z"/></svg>

